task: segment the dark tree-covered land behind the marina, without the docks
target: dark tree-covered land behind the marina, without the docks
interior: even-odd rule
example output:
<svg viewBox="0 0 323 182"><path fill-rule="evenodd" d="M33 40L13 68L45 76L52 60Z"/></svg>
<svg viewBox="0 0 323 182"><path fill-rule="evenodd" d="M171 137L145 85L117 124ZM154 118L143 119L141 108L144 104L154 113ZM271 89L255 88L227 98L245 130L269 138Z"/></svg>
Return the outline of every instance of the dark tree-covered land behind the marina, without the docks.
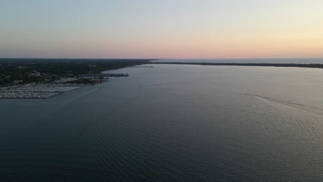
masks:
<svg viewBox="0 0 323 182"><path fill-rule="evenodd" d="M0 86L53 81L149 63L153 59L0 59Z"/></svg>

